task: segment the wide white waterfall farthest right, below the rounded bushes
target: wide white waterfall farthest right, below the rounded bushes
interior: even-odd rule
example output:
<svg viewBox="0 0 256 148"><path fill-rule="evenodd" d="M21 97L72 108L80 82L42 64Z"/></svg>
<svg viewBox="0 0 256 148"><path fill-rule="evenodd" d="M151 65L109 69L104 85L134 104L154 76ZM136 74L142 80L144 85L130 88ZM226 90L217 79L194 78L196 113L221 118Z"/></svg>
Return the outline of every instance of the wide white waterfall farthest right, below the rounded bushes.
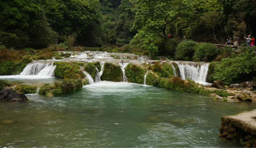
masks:
<svg viewBox="0 0 256 148"><path fill-rule="evenodd" d="M207 83L206 77L208 72L209 63L195 63L195 62L180 62L176 61L180 69L180 77L182 79L194 80L198 83Z"/></svg>

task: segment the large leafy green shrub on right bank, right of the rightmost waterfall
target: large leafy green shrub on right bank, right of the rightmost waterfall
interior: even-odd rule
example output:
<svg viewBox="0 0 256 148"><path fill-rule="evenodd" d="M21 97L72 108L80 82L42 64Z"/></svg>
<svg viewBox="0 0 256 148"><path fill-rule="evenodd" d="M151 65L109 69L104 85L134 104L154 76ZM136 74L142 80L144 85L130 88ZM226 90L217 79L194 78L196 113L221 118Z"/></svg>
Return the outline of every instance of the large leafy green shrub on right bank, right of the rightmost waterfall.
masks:
<svg viewBox="0 0 256 148"><path fill-rule="evenodd" d="M234 54L233 54L234 55ZM214 67L211 79L220 80L224 85L244 82L256 75L254 48L245 48L234 57L223 58Z"/></svg>

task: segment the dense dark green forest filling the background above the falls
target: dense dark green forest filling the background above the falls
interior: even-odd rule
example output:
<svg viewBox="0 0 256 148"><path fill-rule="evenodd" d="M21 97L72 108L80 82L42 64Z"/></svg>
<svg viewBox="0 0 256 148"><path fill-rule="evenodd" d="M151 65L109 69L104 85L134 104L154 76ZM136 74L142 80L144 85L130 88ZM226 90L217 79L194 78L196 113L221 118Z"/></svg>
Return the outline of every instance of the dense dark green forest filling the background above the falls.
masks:
<svg viewBox="0 0 256 148"><path fill-rule="evenodd" d="M76 32L78 45L161 54L168 34L224 43L256 32L254 0L2 0L0 9L0 45L14 49L65 44Z"/></svg>

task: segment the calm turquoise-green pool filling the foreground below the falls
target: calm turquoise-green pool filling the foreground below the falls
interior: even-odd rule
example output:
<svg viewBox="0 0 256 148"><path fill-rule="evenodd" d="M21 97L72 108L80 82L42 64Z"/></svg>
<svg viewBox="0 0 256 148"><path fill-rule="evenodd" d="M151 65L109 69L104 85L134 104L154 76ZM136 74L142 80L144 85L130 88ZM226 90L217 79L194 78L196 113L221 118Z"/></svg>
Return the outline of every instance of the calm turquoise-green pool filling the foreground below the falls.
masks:
<svg viewBox="0 0 256 148"><path fill-rule="evenodd" d="M0 102L0 147L243 147L218 137L220 117L256 108L104 81L59 97L27 97Z"/></svg>

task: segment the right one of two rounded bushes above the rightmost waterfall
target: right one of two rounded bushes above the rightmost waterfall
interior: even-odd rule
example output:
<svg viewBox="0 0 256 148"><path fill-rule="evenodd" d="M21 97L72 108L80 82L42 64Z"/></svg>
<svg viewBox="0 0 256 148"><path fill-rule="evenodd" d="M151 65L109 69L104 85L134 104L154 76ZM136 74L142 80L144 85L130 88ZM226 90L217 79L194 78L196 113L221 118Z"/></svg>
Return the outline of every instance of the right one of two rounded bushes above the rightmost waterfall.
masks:
<svg viewBox="0 0 256 148"><path fill-rule="evenodd" d="M216 46L211 43L200 43L195 47L194 61L211 62L220 53Z"/></svg>

